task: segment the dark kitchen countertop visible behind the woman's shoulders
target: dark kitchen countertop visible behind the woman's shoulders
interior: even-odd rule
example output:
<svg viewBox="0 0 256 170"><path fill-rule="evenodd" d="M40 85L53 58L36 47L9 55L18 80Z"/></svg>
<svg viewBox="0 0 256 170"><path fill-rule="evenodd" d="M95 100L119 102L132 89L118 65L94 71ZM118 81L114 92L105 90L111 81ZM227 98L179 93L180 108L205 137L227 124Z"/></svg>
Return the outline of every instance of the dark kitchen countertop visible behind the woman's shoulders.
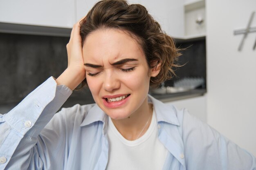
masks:
<svg viewBox="0 0 256 170"><path fill-rule="evenodd" d="M159 99L162 102L172 102L172 101L177 101L180 99L188 99L191 97L198 97L202 96L206 93L206 89L194 89L190 91L184 91L180 93L169 93L169 94L163 94L163 95L157 95L150 93L153 97L156 99ZM8 113L12 108L14 108L19 102L12 102L12 103L5 103L5 104L0 104L0 113ZM92 97L91 93L86 93L83 95L83 97L70 97L67 99L67 101L63 104L62 107L67 108L67 107L72 107L75 104L92 104L94 103L94 99Z"/></svg>

